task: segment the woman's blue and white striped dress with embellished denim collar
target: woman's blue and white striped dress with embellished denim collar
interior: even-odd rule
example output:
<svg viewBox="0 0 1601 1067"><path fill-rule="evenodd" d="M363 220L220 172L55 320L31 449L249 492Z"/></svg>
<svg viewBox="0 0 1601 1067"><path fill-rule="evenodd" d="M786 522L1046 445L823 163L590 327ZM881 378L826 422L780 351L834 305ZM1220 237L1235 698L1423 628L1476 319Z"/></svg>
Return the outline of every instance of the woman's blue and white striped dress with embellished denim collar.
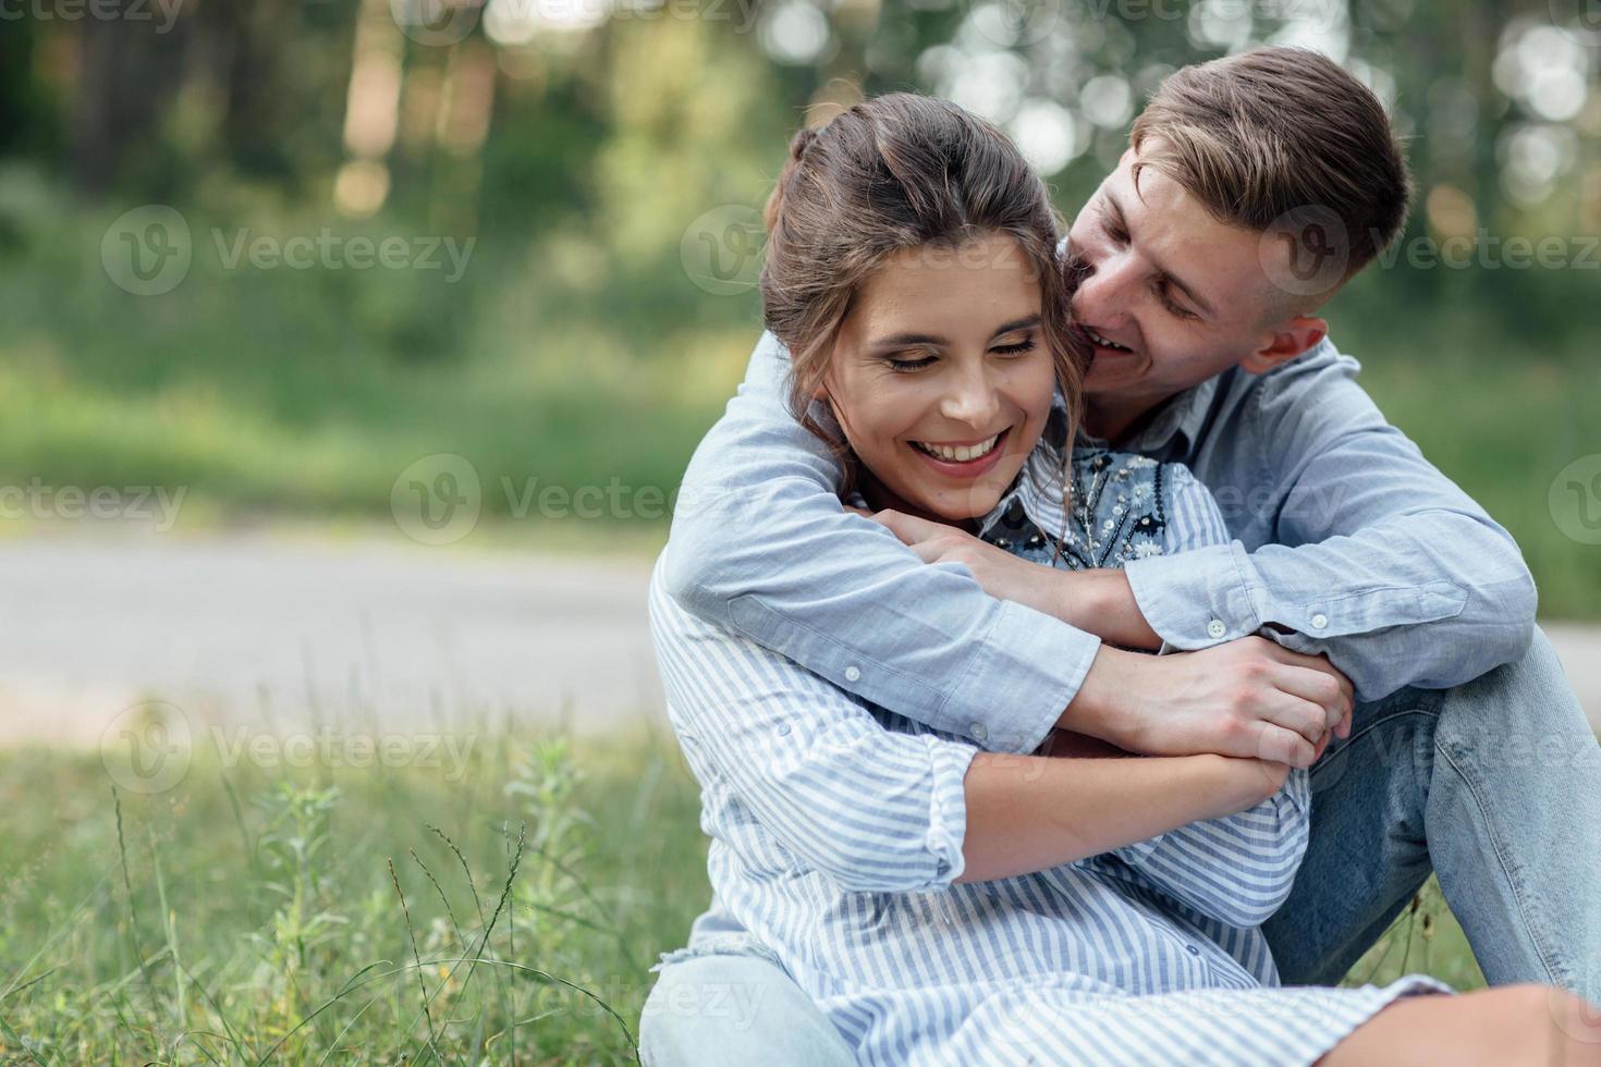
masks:
<svg viewBox="0 0 1601 1067"><path fill-rule="evenodd" d="M1066 474L1071 494L1042 445L980 536L1071 568L1228 542L1183 466L1082 450ZM1394 997L1444 989L1274 989L1258 926L1306 846L1298 769L1234 816L954 885L962 779L983 742L695 617L661 571L652 629L716 896L690 950L770 955L861 1062L1311 1062Z"/></svg>

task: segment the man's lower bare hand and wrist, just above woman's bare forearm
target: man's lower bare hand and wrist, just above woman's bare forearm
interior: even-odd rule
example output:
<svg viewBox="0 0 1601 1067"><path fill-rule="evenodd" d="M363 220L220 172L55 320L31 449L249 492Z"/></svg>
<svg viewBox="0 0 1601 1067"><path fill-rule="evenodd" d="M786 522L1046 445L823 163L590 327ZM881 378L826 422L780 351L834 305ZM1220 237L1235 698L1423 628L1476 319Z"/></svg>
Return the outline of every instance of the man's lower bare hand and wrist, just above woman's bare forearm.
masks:
<svg viewBox="0 0 1601 1067"><path fill-rule="evenodd" d="M1146 755L1217 755L1311 766L1351 731L1351 681L1326 656L1263 637L1143 656L1103 646L1058 726Z"/></svg>

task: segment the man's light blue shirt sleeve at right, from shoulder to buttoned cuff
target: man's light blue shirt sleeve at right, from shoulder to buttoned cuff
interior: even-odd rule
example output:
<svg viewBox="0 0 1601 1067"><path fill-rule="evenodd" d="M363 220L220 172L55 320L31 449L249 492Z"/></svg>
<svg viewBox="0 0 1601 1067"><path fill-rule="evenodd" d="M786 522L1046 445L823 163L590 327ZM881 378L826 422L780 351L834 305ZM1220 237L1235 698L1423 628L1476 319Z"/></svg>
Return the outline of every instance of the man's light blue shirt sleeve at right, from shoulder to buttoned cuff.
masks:
<svg viewBox="0 0 1601 1067"><path fill-rule="evenodd" d="M1132 597L1166 641L1262 632L1326 653L1366 699L1451 688L1529 646L1535 589L1516 542L1385 422L1359 370L1326 342L1252 382L1233 432L1257 470L1234 472L1236 486L1198 474L1225 512L1266 509L1273 544L1130 563Z"/></svg>

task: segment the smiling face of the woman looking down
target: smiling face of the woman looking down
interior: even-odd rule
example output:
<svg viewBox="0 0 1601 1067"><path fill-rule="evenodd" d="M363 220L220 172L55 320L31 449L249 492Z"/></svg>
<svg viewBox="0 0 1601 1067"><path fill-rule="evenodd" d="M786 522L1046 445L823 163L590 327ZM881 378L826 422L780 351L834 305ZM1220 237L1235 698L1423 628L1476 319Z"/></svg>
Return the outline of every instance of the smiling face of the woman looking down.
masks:
<svg viewBox="0 0 1601 1067"><path fill-rule="evenodd" d="M1050 414L1041 299L1002 234L908 248L868 278L825 386L874 507L941 522L994 509Z"/></svg>

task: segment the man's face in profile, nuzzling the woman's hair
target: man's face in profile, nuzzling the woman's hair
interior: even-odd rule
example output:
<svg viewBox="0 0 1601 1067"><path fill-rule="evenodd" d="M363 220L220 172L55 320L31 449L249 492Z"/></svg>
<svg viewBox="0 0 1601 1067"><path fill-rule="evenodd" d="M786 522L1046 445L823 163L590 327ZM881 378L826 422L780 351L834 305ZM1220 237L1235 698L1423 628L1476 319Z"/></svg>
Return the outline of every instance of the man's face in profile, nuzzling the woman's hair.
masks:
<svg viewBox="0 0 1601 1067"><path fill-rule="evenodd" d="M1236 363L1266 370L1276 360L1255 358L1263 349L1282 357L1286 344L1297 354L1322 336L1295 326L1321 320L1276 304L1282 294L1263 269L1260 234L1218 222L1151 168L1135 181L1137 160L1124 152L1068 232L1081 262L1073 320L1093 346L1084 382L1090 429L1103 434L1097 411L1121 411L1113 426L1126 426Z"/></svg>

